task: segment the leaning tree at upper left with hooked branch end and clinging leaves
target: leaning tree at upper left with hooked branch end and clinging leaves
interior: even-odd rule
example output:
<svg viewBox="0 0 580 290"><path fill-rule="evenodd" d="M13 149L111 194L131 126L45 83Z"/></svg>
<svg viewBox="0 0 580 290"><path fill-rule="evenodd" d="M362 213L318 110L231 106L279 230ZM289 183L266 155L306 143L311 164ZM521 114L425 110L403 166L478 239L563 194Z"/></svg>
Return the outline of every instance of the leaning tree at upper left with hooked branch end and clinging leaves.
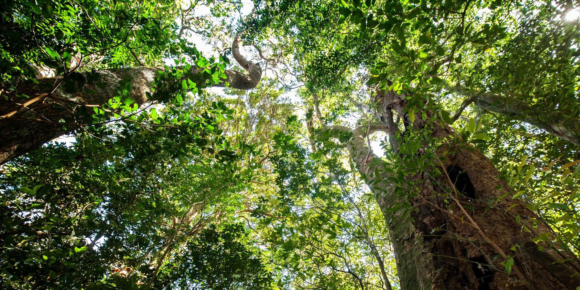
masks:
<svg viewBox="0 0 580 290"><path fill-rule="evenodd" d="M34 5L32 6L32 23L35 13ZM69 8L55 11L50 8L50 13L66 14ZM91 4L92 5L92 4ZM70 6L69 6L70 7ZM116 5L115 5L116 7ZM145 17L146 12L137 9L135 14L135 23L143 26L148 23ZM103 6L97 6L96 15L86 12L85 17L80 17L78 21L93 21L93 17L99 19L108 19L111 17L104 10ZM59 9L59 8L57 8ZM76 8L83 9L83 5L78 4ZM43 19L48 17L41 16ZM86 19L85 19L86 18ZM46 21L46 20L45 20ZM155 21L155 20L153 20ZM158 22L158 21L157 21ZM8 21L8 23L12 23ZM17 25L17 24L12 24ZM31 25L31 24L30 24ZM26 25L20 24L26 28ZM49 27L52 28L52 27ZM143 27L146 29L147 27ZM58 30L59 28L52 28ZM99 28L96 29L99 34L103 34ZM60 31L60 30L59 30ZM48 31L39 31L33 33L44 35ZM170 33L165 28L166 33ZM119 41L113 46L122 45L127 41L130 34L129 30L124 40ZM245 59L240 53L241 33L234 38L231 46L231 52L234 59L242 68L248 71L248 74L242 74L234 70L224 70L223 63L213 63L213 59L205 59L197 49L191 48L182 42L180 47L183 53L191 57L195 62L192 66L182 60L182 66L177 67L133 67L133 68L110 68L107 70L86 71L78 73L77 69L81 66L82 60L96 53L109 52L111 48L90 52L82 55L76 66L67 68L63 75L52 78L42 78L39 80L28 79L19 83L12 81L3 84L3 100L0 100L0 132L4 141L0 148L0 164L12 160L21 154L27 153L42 146L42 144L55 139L56 137L71 133L83 126L93 126L107 124L114 121L137 122L143 124L143 119L149 119L150 115L144 112L142 107L148 103L149 107L155 103L174 103L179 106L184 98L187 98L187 92L206 86L229 85L231 88L251 89L254 88L262 77L262 68L259 64L252 63ZM140 35L135 35L138 37ZM94 35L88 35L94 37ZM70 40L72 41L72 40ZM166 46L168 44L161 44ZM70 53L66 52L64 56L48 49L49 55L55 59L62 60L66 63L64 56L70 59ZM131 48L128 48L134 54ZM175 49L174 49L175 50ZM78 53L84 53L79 50ZM220 57L221 59L221 57ZM138 60L138 59L137 59ZM55 60L52 60L53 62ZM107 114L106 114L107 113ZM179 115L173 112L174 115ZM113 119L110 119L114 117ZM179 116L176 116L179 117ZM151 120L153 122L155 116Z"/></svg>

